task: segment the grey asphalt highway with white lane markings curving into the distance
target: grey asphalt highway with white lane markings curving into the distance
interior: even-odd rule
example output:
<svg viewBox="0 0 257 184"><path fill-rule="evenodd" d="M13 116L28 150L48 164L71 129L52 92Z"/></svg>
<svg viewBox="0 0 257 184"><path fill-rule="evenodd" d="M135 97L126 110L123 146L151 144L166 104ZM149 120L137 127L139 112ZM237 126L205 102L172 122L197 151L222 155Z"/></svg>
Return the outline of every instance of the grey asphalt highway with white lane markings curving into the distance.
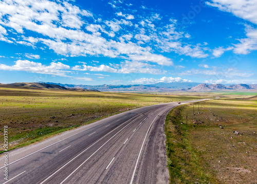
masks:
<svg viewBox="0 0 257 184"><path fill-rule="evenodd" d="M127 111L10 151L8 180L0 157L0 183L169 183L164 120L178 105Z"/></svg>

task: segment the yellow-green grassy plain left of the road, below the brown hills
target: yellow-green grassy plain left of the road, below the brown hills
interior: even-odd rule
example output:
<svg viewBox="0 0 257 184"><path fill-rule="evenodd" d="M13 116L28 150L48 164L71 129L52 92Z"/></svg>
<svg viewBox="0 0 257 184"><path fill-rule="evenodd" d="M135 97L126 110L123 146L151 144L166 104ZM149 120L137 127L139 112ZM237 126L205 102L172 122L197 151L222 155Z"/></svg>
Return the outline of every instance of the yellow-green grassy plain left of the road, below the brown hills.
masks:
<svg viewBox="0 0 257 184"><path fill-rule="evenodd" d="M9 129L9 149L13 149L126 110L198 98L203 97L0 88L0 151L4 126Z"/></svg>

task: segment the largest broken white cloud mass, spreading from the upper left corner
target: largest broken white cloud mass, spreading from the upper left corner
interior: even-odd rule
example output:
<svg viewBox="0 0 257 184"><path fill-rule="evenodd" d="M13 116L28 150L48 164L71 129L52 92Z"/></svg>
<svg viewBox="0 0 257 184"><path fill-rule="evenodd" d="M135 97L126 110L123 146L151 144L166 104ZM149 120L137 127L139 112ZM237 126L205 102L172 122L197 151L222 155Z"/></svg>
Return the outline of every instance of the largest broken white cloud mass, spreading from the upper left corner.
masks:
<svg viewBox="0 0 257 184"><path fill-rule="evenodd" d="M141 17L143 27L149 29L148 34L137 33L135 26L135 35L132 35L127 28L133 26L131 21L135 18L134 15L117 12L117 16L125 19L113 18L94 22L94 16L90 11L82 10L66 1L28 0L23 3L19 0L5 0L0 2L0 12L0 40L13 43L13 40L7 37L4 28L8 27L17 32L16 44L33 48L36 48L36 44L44 44L57 54L65 56L94 55L132 61L139 61L140 58L141 61L159 65L172 65L172 61L163 55L155 54L155 48L159 48L161 52L176 52L196 58L208 56L199 45L182 44L178 40L189 37L189 34L176 31L175 21L167 26L157 27L154 22L161 19L157 13L151 14L148 18ZM87 20L91 20L92 23ZM84 27L86 29L83 29ZM37 37L24 36L27 31L35 32ZM160 34L156 34L156 31ZM109 38L103 37L102 33L107 34ZM125 40L117 42L116 34ZM131 42L133 37L139 42L151 39L153 44L141 47L138 45L139 42Z"/></svg>

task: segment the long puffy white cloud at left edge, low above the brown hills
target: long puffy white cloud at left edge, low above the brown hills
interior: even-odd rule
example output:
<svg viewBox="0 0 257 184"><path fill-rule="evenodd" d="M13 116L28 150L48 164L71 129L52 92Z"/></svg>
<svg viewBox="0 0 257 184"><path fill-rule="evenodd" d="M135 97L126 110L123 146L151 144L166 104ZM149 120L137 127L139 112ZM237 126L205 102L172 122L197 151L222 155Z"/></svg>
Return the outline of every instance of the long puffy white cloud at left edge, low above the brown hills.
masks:
<svg viewBox="0 0 257 184"><path fill-rule="evenodd" d="M8 66L4 64L0 64L0 70L17 70L17 71L26 71L32 73L42 73L49 75L57 75L67 77L66 73L70 71L65 71L70 69L68 65L64 65L60 62L58 63L50 63L49 66L42 65L41 63L30 62L29 60L17 60L14 62L15 65Z"/></svg>

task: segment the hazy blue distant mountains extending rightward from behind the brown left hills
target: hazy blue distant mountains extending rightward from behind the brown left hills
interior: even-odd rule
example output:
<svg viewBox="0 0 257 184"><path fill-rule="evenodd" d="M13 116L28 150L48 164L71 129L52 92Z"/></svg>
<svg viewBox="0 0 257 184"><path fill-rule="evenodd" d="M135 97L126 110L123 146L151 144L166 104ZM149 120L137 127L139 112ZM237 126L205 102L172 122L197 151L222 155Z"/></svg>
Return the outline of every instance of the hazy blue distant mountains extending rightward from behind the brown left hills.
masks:
<svg viewBox="0 0 257 184"><path fill-rule="evenodd" d="M224 91L237 90L246 91L257 89L257 85L237 84L224 86L221 84L200 84L200 83L156 83L151 85L69 85L60 83L45 83L40 84L59 85L65 88L82 88L98 91Z"/></svg>

